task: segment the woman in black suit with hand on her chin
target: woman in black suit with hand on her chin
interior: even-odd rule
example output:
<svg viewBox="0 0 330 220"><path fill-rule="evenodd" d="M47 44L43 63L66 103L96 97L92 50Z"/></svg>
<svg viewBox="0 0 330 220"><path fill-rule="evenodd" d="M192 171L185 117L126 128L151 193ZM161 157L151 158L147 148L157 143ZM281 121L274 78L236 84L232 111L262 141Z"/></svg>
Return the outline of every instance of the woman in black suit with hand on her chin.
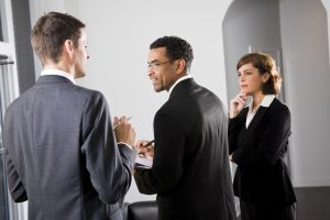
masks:
<svg viewBox="0 0 330 220"><path fill-rule="evenodd" d="M230 101L229 157L238 165L233 189L242 220L293 220L296 196L284 162L290 112L276 98L282 78L262 53L241 57L237 70L241 92Z"/></svg>

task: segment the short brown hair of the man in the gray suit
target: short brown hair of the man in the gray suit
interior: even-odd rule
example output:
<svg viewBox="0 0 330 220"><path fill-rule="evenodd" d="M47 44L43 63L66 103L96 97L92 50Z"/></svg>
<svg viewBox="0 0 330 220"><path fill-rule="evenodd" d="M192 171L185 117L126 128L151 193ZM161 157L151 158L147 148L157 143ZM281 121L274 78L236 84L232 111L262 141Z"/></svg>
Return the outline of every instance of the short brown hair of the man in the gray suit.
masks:
<svg viewBox="0 0 330 220"><path fill-rule="evenodd" d="M85 24L69 14L48 12L36 21L32 30L32 47L43 63L46 58L57 63L66 40L78 46L82 28Z"/></svg>

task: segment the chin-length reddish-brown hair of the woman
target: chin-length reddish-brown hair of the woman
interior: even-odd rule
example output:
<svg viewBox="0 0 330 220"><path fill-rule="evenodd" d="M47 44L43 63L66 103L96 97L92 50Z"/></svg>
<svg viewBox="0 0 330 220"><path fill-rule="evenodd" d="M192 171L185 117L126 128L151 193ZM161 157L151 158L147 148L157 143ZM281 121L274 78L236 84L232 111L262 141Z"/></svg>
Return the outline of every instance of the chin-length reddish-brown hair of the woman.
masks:
<svg viewBox="0 0 330 220"><path fill-rule="evenodd" d="M276 70L276 64L270 54L250 53L243 55L237 65L237 70L245 64L252 64L261 75L270 74L270 79L262 86L264 95L277 95L280 91L282 78Z"/></svg>

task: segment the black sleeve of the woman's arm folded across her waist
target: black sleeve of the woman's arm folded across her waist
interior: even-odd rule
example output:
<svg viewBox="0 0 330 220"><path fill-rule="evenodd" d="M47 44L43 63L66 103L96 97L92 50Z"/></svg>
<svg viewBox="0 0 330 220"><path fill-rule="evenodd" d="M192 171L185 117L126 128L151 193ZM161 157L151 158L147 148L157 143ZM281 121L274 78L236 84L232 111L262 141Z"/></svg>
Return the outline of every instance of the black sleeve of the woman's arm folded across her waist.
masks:
<svg viewBox="0 0 330 220"><path fill-rule="evenodd" d="M238 165L268 166L274 165L286 151L290 135L290 113L287 107L270 109L264 130L256 139L255 147L241 147L233 153Z"/></svg>

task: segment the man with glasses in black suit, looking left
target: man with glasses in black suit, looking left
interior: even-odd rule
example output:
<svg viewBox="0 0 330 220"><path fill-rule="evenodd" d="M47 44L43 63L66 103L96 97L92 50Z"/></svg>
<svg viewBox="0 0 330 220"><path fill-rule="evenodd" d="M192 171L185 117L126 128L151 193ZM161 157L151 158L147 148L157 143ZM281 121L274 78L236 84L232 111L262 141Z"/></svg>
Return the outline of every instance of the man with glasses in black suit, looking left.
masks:
<svg viewBox="0 0 330 220"><path fill-rule="evenodd" d="M150 46L150 79L169 98L154 118L153 166L136 169L135 182L141 193L157 194L161 220L233 220L228 117L219 98L188 74L193 58L191 46L176 36Z"/></svg>

